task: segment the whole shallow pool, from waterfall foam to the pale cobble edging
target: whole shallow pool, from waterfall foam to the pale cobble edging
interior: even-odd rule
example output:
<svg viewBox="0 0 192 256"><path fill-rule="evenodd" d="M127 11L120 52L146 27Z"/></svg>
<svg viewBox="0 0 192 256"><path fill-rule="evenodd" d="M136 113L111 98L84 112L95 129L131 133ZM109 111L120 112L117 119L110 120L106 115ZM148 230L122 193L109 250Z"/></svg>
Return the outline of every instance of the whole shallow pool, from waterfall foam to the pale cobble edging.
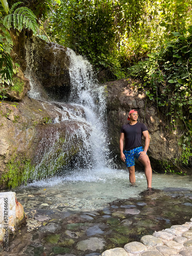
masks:
<svg viewBox="0 0 192 256"><path fill-rule="evenodd" d="M18 188L28 217L7 255L89 255L139 241L145 234L191 218L191 176L153 174L147 194L143 172L130 187L126 170L77 170L70 175ZM78 243L103 239L102 248L81 250Z"/></svg>

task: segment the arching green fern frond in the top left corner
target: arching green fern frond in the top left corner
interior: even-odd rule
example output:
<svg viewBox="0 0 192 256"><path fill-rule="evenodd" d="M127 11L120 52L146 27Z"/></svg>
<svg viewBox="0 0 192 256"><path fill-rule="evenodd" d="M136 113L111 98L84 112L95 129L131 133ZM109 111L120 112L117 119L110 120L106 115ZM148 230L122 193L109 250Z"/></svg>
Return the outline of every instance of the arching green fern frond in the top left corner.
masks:
<svg viewBox="0 0 192 256"><path fill-rule="evenodd" d="M9 13L4 18L4 26L10 30L11 27L21 31L24 29L32 30L34 34L36 34L38 25L36 22L36 16L34 13L27 7L19 7L16 6L23 4L22 2L15 3ZM16 8L16 9L15 9Z"/></svg>

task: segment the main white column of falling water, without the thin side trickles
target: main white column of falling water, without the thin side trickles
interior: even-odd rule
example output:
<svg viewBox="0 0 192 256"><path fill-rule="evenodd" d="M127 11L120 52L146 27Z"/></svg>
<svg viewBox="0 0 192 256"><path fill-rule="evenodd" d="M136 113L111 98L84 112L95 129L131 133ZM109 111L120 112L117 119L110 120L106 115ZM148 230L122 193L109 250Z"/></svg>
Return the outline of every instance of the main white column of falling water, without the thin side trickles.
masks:
<svg viewBox="0 0 192 256"><path fill-rule="evenodd" d="M80 104L84 109L92 129L89 138L93 161L91 165L94 168L109 166L104 88L95 82L92 66L86 59L70 49L67 54L71 60L69 71L73 84L70 101Z"/></svg>

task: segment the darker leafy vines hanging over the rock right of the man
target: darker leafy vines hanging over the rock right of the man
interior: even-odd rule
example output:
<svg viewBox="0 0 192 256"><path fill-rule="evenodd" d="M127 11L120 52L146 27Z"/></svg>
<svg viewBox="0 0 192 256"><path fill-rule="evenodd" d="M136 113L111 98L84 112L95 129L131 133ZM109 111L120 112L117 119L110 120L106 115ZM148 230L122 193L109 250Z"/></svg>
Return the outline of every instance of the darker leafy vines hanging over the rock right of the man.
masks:
<svg viewBox="0 0 192 256"><path fill-rule="evenodd" d="M188 32L192 28L189 28ZM146 95L161 108L182 147L178 165L189 164L192 156L192 35L174 33L175 39L166 42L158 52L148 54L130 68L130 75L143 80L149 88Z"/></svg>

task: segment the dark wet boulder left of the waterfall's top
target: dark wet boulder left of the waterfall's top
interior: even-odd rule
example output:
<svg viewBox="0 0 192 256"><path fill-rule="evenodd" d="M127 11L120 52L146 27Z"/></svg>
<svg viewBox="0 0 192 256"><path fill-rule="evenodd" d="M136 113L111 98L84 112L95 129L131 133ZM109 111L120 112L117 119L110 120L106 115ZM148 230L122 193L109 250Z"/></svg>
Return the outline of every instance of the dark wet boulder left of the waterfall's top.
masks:
<svg viewBox="0 0 192 256"><path fill-rule="evenodd" d="M67 98L71 88L67 48L33 36L26 41L25 49L25 73L38 79L52 98Z"/></svg>

